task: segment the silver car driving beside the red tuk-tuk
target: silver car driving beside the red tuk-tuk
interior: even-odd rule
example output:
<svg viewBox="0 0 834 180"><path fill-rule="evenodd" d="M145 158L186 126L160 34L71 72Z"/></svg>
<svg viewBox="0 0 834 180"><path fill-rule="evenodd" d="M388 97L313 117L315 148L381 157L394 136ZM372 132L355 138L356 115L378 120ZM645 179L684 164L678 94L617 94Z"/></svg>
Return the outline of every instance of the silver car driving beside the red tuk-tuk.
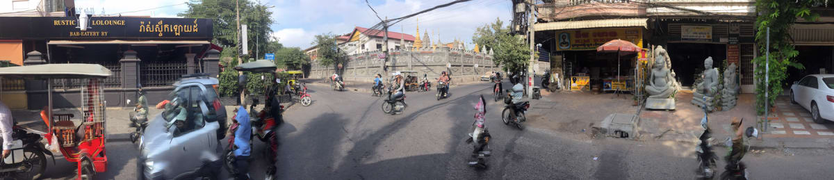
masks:
<svg viewBox="0 0 834 180"><path fill-rule="evenodd" d="M139 140L137 179L216 179L223 166L220 139L225 108L214 77L185 77L174 83L165 110Z"/></svg>

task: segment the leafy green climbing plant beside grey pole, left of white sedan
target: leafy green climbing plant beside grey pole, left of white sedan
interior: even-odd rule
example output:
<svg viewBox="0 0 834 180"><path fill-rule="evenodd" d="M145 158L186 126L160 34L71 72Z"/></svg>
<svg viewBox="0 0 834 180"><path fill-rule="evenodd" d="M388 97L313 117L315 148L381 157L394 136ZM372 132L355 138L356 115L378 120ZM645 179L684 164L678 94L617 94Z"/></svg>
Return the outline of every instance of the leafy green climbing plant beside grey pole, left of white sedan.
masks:
<svg viewBox="0 0 834 180"><path fill-rule="evenodd" d="M816 21L819 14L811 13L812 4L816 0L758 0L756 1L756 12L761 13L756 18L756 43L759 46L759 57L753 62L756 63L756 112L763 114L766 110L765 101L771 105L776 102L776 95L784 91L786 86L787 68L794 67L803 69L802 64L796 62L794 57L799 55L793 44L789 30L796 22L796 18L804 18L808 21ZM770 58L768 81L765 82L765 63L767 52L767 28L770 28ZM765 99L765 84L769 85L770 96Z"/></svg>

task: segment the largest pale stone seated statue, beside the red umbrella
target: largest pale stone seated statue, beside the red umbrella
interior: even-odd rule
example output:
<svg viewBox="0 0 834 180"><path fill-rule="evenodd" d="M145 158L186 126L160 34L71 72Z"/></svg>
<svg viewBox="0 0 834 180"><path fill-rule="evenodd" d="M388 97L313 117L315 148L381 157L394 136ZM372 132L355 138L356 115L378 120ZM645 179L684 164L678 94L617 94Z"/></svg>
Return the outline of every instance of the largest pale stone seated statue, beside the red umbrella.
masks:
<svg viewBox="0 0 834 180"><path fill-rule="evenodd" d="M676 80L671 72L669 54L661 46L655 48L655 63L651 68L649 84L646 85L646 109L675 109Z"/></svg>

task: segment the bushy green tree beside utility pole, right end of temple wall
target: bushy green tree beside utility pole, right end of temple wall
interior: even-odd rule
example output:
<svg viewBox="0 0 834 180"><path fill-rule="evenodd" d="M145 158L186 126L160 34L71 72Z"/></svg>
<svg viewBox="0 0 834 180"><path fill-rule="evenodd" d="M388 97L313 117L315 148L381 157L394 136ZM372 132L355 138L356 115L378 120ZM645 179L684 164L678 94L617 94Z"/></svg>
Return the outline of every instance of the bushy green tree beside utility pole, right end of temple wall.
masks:
<svg viewBox="0 0 834 180"><path fill-rule="evenodd" d="M510 34L497 36L497 46L492 58L495 64L504 66L505 71L520 72L527 67L530 61L530 47L525 46L525 40L521 37Z"/></svg>

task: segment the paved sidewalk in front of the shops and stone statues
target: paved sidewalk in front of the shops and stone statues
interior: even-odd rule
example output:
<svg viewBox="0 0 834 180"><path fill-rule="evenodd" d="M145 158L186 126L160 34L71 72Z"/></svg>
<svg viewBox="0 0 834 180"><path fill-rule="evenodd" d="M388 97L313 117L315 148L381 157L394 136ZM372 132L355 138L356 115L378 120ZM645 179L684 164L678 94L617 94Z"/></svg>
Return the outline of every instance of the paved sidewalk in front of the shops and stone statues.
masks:
<svg viewBox="0 0 834 180"><path fill-rule="evenodd" d="M701 135L701 118L704 116L701 108L690 103L691 92L679 92L677 96L675 111L650 111L640 110L641 122L640 137L638 141L671 141L680 143L697 143ZM709 126L713 131L713 144L724 146L723 140L731 137L731 117L744 118L742 127L756 127L756 111L754 107L754 94L741 94L738 106L725 112L711 112ZM542 98L530 100L530 111L528 112L528 123L530 127L546 128L568 133L590 133L595 124L600 123L603 118L611 113L635 114L640 107L632 106L630 94L620 95L612 93L594 94L591 92L547 92L542 91ZM778 104L787 106L791 104ZM794 105L796 106L796 105ZM798 107L798 106L796 106ZM785 111L794 111L796 108L780 108ZM781 116L791 115L791 112L780 112ZM801 117L801 112L792 112ZM792 120L793 118L791 118ZM803 120L800 120L803 121ZM813 122L810 122L813 123ZM786 123L790 124L790 123ZM814 133L826 134L830 130L820 129L831 128L830 124L811 126L807 125ZM771 123L776 127L779 122ZM796 124L793 124L798 128ZM784 125L784 127L789 127ZM781 128L771 128L768 133L778 133ZM756 148L834 148L834 136L776 136L776 134L763 134L761 138L751 141L751 146Z"/></svg>

